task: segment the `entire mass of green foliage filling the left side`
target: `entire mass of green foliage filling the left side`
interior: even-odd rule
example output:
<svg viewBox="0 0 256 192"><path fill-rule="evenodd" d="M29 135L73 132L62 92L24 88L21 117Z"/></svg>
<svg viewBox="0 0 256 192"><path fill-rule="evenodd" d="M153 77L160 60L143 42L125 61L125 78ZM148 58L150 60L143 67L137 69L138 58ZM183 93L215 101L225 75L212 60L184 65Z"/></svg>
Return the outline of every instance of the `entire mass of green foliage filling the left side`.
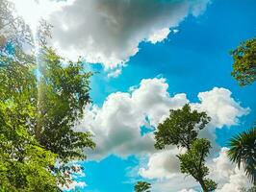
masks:
<svg viewBox="0 0 256 192"><path fill-rule="evenodd" d="M64 66L53 50L43 54L40 74L0 54L0 191L60 191L57 183L77 171L67 162L94 147L90 132L72 130L90 102L91 73L80 61Z"/></svg>

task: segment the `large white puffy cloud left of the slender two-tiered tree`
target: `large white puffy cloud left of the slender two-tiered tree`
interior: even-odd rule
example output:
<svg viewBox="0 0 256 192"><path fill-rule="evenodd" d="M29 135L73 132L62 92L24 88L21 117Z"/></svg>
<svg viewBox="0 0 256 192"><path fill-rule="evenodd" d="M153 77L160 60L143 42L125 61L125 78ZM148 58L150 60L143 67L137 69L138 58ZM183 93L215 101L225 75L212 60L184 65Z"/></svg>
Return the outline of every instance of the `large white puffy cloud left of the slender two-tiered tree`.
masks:
<svg viewBox="0 0 256 192"><path fill-rule="evenodd" d="M132 92L109 95L102 108L87 108L85 119L76 130L87 128L95 135L97 146L87 152L89 157L100 159L110 154L130 156L155 151L153 133L141 135L141 127L156 126L169 108L180 108L188 102L185 94L170 97L167 88L165 79L142 80Z"/></svg>

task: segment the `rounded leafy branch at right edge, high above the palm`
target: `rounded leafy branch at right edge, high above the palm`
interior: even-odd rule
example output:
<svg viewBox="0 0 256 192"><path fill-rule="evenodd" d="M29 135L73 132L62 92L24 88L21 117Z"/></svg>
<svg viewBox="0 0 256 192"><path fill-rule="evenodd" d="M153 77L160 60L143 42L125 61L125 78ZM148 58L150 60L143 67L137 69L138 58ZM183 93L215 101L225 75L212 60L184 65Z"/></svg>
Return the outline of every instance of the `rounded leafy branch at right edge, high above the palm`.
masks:
<svg viewBox="0 0 256 192"><path fill-rule="evenodd" d="M256 80L256 38L244 41L235 50L233 57L233 71L231 75L240 85L253 84Z"/></svg>

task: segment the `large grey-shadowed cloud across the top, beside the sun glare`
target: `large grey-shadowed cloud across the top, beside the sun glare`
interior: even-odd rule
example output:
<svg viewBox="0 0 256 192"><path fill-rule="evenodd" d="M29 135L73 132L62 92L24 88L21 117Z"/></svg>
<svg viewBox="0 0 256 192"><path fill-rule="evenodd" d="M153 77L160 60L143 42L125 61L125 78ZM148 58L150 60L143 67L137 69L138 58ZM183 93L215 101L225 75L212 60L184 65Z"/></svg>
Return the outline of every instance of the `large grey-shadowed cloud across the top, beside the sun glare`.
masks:
<svg viewBox="0 0 256 192"><path fill-rule="evenodd" d="M189 14L204 12L209 0L75 0L54 12L53 45L69 58L83 56L106 69L122 66L141 41L156 43Z"/></svg>

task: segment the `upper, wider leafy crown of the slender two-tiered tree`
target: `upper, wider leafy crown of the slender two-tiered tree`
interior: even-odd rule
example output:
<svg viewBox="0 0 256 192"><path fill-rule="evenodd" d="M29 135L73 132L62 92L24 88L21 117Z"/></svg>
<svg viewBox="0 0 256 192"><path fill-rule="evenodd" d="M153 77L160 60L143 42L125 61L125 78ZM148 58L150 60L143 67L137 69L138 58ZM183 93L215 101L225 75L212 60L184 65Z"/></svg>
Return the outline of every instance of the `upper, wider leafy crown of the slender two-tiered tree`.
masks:
<svg viewBox="0 0 256 192"><path fill-rule="evenodd" d="M181 109L170 109L168 118L154 132L156 149L164 149L171 144L190 149L198 131L204 129L209 121L210 117L205 112L192 110L188 104Z"/></svg>

